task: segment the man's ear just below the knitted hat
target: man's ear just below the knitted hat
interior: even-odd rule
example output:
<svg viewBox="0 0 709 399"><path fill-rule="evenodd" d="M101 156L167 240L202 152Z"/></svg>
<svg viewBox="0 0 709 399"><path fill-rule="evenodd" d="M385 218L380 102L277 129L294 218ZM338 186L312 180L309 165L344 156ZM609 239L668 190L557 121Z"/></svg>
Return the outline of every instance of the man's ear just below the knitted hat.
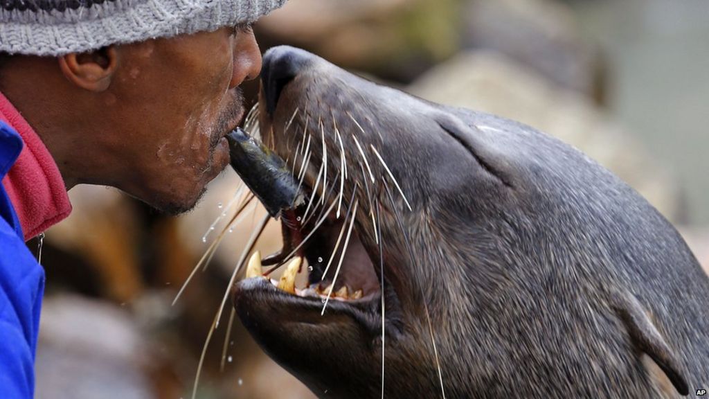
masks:
<svg viewBox="0 0 709 399"><path fill-rule="evenodd" d="M103 92L111 85L118 69L118 51L105 47L89 53L72 53L59 58L64 76L82 89Z"/></svg>

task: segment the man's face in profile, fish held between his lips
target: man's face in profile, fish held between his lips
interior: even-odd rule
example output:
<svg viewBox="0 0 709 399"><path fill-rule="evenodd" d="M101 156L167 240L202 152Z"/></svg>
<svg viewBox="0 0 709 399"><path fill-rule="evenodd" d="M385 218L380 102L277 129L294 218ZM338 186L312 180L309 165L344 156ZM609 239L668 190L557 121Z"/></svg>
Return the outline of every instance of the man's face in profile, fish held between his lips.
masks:
<svg viewBox="0 0 709 399"><path fill-rule="evenodd" d="M228 164L224 135L245 111L238 86L261 69L254 35L221 28L117 50L116 76L100 99L102 151L121 164L104 184L165 212L189 210Z"/></svg>

